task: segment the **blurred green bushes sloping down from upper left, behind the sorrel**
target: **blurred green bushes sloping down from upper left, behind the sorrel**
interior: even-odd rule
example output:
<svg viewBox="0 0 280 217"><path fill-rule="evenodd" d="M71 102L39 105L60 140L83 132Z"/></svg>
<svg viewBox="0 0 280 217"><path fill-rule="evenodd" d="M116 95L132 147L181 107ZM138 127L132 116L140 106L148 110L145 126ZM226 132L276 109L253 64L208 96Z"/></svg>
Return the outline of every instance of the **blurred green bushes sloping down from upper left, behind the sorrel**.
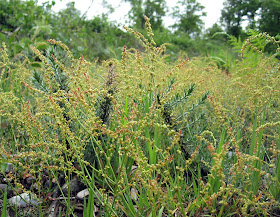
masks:
<svg viewBox="0 0 280 217"><path fill-rule="evenodd" d="M68 3L66 9L55 14L51 12L53 4L38 6L33 0L16 2L1 1L0 7L0 39L7 43L12 56L22 53L31 57L29 46L39 48L50 38L64 41L76 57L82 53L86 58L101 60L112 54L120 57L123 45L130 44L127 34L109 22L106 15L87 20L74 3Z"/></svg>

